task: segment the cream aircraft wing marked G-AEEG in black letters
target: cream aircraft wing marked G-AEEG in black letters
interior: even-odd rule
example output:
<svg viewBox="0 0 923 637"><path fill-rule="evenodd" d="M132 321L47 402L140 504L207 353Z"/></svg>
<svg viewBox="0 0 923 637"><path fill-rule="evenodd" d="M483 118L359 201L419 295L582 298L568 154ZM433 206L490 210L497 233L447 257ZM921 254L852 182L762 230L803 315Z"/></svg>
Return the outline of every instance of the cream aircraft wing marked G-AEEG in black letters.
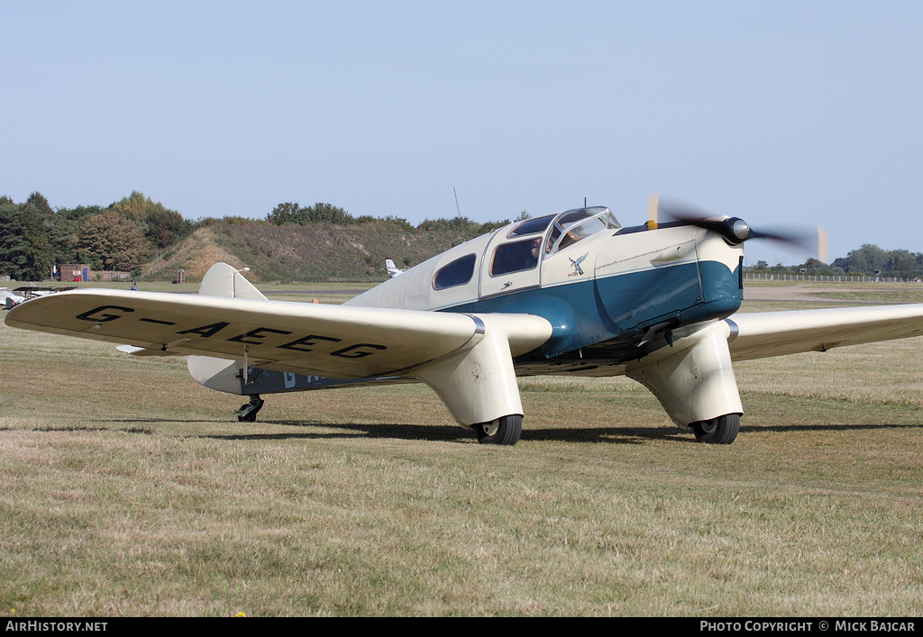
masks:
<svg viewBox="0 0 923 637"><path fill-rule="evenodd" d="M491 315L513 356L551 335L544 318ZM78 290L30 300L6 324L133 345L150 354L207 355L338 379L395 374L462 348L477 315L332 306L196 294Z"/></svg>

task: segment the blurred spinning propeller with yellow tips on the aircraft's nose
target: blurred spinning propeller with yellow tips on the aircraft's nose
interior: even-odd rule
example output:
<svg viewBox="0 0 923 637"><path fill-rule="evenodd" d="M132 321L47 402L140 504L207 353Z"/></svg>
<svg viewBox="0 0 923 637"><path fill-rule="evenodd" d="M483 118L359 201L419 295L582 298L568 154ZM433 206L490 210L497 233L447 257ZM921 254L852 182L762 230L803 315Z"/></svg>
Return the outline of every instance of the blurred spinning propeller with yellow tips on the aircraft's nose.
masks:
<svg viewBox="0 0 923 637"><path fill-rule="evenodd" d="M770 239L797 246L818 255L821 262L827 262L827 233L818 226L813 230L785 229L778 231L754 230L748 222L739 217L717 217L689 206L666 205L657 195L651 195L648 203L649 225L656 227L658 218L664 214L670 221L686 223L712 230L725 237L728 243L739 245L750 239Z"/></svg>

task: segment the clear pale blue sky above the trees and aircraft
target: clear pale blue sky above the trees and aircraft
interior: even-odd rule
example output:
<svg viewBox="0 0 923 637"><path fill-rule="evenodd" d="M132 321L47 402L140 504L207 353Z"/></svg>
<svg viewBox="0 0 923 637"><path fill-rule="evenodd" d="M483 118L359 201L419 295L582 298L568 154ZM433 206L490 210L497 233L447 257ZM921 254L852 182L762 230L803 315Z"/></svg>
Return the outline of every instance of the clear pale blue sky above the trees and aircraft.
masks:
<svg viewBox="0 0 923 637"><path fill-rule="evenodd" d="M0 0L0 194L415 223L653 191L923 251L923 3ZM748 260L805 255L748 244Z"/></svg>

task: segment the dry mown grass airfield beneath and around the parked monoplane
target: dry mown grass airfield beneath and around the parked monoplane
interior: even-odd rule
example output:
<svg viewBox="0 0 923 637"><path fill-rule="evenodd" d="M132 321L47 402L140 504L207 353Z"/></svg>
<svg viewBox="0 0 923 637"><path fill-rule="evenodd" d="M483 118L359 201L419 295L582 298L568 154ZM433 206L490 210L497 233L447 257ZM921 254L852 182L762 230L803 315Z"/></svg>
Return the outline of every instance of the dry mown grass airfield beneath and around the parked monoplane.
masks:
<svg viewBox="0 0 923 637"><path fill-rule="evenodd" d="M350 285L301 287L270 297ZM738 365L730 446L628 379L523 379L511 448L420 385L271 396L243 424L185 359L0 343L8 617L923 613L923 339Z"/></svg>

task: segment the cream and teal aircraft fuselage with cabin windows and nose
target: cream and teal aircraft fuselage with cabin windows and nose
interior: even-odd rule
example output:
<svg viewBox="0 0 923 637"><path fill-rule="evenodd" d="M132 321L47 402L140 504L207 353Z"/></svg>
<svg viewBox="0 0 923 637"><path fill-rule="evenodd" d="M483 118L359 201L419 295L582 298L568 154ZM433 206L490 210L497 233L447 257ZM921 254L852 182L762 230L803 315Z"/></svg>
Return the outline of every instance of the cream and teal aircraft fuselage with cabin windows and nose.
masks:
<svg viewBox="0 0 923 637"><path fill-rule="evenodd" d="M533 314L553 335L516 359L517 373L608 375L676 327L737 311L742 258L694 226L621 228L607 209L569 210L455 246L347 304Z"/></svg>

